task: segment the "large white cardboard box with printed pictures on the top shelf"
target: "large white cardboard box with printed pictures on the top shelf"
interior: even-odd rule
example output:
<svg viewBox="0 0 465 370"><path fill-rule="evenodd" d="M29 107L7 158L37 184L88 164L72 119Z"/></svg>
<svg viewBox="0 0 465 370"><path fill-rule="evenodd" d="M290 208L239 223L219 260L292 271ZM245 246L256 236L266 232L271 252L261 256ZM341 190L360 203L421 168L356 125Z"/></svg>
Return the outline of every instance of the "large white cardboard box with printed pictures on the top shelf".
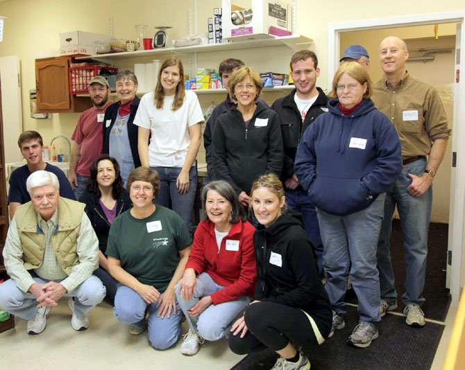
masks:
<svg viewBox="0 0 465 370"><path fill-rule="evenodd" d="M242 1L241 4L243 4ZM271 26L292 30L291 0L251 0L251 8L235 6L233 0L222 0L223 38L253 39L269 37ZM235 18L233 24L232 17Z"/></svg>

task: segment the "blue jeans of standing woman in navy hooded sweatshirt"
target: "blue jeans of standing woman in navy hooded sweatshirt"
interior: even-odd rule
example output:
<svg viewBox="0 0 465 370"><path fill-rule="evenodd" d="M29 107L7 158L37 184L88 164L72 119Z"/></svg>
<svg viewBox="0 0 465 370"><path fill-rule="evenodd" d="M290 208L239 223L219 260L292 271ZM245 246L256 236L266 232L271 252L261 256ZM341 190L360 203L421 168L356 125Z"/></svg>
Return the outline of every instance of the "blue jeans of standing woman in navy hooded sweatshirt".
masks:
<svg viewBox="0 0 465 370"><path fill-rule="evenodd" d="M362 211L338 216L316 209L325 246L323 267L332 310L346 314L344 297L350 274L357 294L360 321L380 321L380 281L376 246L383 217L384 193ZM350 272L349 272L350 269Z"/></svg>

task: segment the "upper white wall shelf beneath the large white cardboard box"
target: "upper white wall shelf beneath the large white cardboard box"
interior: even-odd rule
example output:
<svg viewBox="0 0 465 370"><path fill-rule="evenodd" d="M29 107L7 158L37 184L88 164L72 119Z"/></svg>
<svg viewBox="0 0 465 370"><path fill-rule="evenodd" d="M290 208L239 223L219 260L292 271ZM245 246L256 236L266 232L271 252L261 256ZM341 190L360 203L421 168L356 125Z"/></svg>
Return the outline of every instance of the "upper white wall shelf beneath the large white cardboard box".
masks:
<svg viewBox="0 0 465 370"><path fill-rule="evenodd" d="M123 53L96 54L87 57L79 57L77 60L100 60L102 62L111 62L114 60L133 59L133 58L150 58L156 55L183 54L183 53L211 53L212 51L229 51L242 49L255 49L269 46L285 45L294 49L298 44L311 44L313 39L301 35L291 35L283 37L273 37L265 39L248 39L242 41L227 42L224 44L208 44L184 46L180 48L160 48L153 50L126 51Z"/></svg>

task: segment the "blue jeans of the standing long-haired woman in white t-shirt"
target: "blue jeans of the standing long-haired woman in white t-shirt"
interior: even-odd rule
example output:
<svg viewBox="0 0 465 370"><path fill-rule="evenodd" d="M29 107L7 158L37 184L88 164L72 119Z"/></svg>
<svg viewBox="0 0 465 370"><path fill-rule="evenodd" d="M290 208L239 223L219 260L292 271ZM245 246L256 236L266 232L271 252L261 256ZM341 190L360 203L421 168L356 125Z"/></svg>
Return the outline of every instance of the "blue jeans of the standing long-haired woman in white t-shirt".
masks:
<svg viewBox="0 0 465 370"><path fill-rule="evenodd" d="M180 194L176 188L176 180L181 172L181 168L177 167L151 167L156 170L160 176L160 192L155 197L155 204L160 206L171 206L173 211L178 213L183 222L190 230L192 224L192 210L194 209L194 198L197 188L197 171L195 166L189 170L189 191L185 194Z"/></svg>

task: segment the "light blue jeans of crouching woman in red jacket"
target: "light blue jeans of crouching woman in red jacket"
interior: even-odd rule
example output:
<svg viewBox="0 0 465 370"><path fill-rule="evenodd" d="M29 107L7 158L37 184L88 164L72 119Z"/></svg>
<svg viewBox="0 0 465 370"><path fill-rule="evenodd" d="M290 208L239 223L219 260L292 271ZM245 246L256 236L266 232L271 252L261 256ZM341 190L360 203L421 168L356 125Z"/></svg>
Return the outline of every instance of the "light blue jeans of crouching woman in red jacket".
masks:
<svg viewBox="0 0 465 370"><path fill-rule="evenodd" d="M233 301L211 304L198 317L189 316L188 310L192 308L202 297L208 296L214 292L218 292L225 287L218 285L213 281L209 274L202 272L197 276L196 289L189 301L183 299L183 295L178 292L176 285L176 298L179 306L184 312L184 315L189 324L189 328L198 332L205 340L220 340L225 336L225 331L233 319L246 308L251 299L247 296L242 296Z"/></svg>

